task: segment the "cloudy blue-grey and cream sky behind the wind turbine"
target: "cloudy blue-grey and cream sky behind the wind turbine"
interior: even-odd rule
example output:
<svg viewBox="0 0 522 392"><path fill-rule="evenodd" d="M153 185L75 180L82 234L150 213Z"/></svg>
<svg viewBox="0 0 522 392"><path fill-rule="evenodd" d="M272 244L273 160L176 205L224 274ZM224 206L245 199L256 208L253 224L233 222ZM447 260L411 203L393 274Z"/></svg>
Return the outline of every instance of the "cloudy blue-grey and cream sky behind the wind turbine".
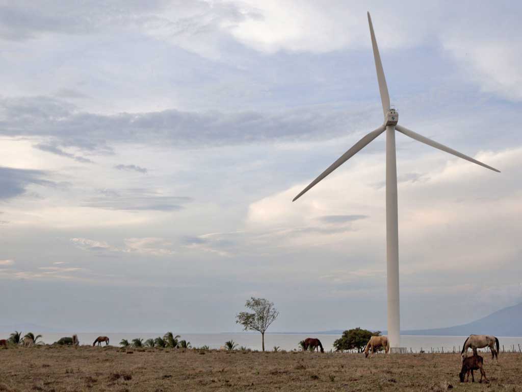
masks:
<svg viewBox="0 0 522 392"><path fill-rule="evenodd" d="M400 123L401 327L522 301L522 6L0 2L3 325L386 328L384 135L370 10ZM35 5L38 4L38 5Z"/></svg>

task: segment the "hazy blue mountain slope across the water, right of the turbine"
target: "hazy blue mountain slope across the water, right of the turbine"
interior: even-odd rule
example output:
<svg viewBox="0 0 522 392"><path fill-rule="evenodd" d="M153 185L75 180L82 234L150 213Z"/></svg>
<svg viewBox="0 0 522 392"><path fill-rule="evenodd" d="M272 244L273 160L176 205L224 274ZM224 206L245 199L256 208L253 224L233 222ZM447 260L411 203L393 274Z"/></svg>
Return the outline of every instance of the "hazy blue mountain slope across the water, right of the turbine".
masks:
<svg viewBox="0 0 522 392"><path fill-rule="evenodd" d="M455 327L401 331L401 335L467 336L495 335L522 336L522 303L497 310L489 316Z"/></svg>

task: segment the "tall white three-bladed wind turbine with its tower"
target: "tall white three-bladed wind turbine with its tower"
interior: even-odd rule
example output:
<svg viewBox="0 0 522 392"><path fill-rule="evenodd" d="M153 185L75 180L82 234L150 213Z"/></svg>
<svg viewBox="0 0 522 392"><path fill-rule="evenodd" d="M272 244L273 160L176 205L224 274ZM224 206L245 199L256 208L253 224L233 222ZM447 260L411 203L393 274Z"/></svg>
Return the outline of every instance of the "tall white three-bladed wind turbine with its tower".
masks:
<svg viewBox="0 0 522 392"><path fill-rule="evenodd" d="M469 160L469 162L474 164L483 166L493 171L500 171L397 124L399 115L395 109L390 108L388 87L386 86L386 78L384 77L383 65L381 63L381 56L379 55L379 50L377 48L375 33L373 32L370 13L368 13L368 23L370 25L370 35L372 38L373 56L375 59L375 68L377 71L379 93L381 94L381 101L383 104L384 123L375 131L370 132L360 141L355 143L346 153L342 154L339 159L337 159L333 164L330 165L330 167L323 171L321 175L313 180L310 185L303 189L301 193L299 193L292 201L299 199L319 181L328 176L332 171L345 163L353 155L357 154L362 148L364 148L364 146L373 141L381 133L386 131L386 279L388 294L388 339L390 341L390 347L398 348L400 347L399 225L397 216L397 165L395 157L395 131L397 130L400 133L411 137L412 139L438 148L449 154L456 155L459 158Z"/></svg>

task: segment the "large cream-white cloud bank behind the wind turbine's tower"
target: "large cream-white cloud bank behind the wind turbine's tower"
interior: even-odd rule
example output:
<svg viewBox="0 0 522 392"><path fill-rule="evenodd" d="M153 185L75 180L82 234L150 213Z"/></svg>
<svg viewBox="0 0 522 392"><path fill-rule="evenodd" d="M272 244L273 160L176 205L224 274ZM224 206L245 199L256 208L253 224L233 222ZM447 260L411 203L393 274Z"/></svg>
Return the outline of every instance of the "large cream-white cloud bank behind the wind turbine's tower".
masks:
<svg viewBox="0 0 522 392"><path fill-rule="evenodd" d="M518 202L522 185L513 178L522 175L522 148L482 153L477 159L500 167L502 174L442 153L400 159L399 172L415 169L425 178L399 183L402 274L471 266L487 271L492 262L498 265L516 259L520 251L516 238L522 236L517 223L522 219ZM345 164L294 203L292 198L306 183L252 203L248 227L292 232L291 236L273 235L275 244L287 248L337 249L375 266L385 246L385 190L372 183L384 176L384 156L352 160L356 162ZM346 213L367 218L350 222L349 231L338 232L329 232L329 224L318 219ZM317 229L303 230L307 227Z"/></svg>

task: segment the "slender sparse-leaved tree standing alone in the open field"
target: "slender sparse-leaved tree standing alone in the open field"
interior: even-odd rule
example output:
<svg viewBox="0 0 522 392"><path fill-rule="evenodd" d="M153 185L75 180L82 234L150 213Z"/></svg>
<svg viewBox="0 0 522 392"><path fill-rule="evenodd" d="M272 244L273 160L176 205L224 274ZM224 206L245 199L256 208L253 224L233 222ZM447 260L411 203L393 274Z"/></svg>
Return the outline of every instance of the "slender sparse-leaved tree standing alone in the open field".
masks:
<svg viewBox="0 0 522 392"><path fill-rule="evenodd" d="M241 324L245 331L261 332L263 339L263 351L265 351L265 331L270 324L275 321L279 312L273 302L269 302L265 298L247 299L245 306L252 310L253 313L241 312L236 316L236 324Z"/></svg>

